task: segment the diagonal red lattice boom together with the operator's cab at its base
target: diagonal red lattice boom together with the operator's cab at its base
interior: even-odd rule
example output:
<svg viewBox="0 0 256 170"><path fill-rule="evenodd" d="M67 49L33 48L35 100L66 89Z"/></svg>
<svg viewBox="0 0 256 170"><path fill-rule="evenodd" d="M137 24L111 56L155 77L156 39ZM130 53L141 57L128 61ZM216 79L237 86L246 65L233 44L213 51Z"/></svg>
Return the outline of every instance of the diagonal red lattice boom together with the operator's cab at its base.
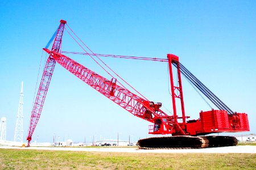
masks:
<svg viewBox="0 0 256 170"><path fill-rule="evenodd" d="M51 54L55 61L65 69L89 84L89 86L93 87L102 95L114 101L114 103L126 109L126 111L134 114L134 116L154 123L154 128L150 129L150 134L185 135L183 129L180 127L180 125L184 126L184 124L177 123L174 120L175 116L168 116L168 114L164 113L160 109L162 106L161 103L155 104L152 101L144 100L126 88L118 86L115 80L108 80L63 54L51 52L48 49L44 50ZM156 124L156 122L159 123Z"/></svg>

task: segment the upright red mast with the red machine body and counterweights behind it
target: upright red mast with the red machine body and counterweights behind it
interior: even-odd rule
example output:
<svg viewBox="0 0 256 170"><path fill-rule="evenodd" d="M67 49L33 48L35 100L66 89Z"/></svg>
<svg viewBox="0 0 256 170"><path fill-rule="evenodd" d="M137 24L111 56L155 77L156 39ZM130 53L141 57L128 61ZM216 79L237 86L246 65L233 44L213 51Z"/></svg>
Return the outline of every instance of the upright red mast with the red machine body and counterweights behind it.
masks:
<svg viewBox="0 0 256 170"><path fill-rule="evenodd" d="M207 112L201 111L199 120L189 120L185 122L186 118L189 117L185 116L184 111L179 57L175 56L174 54L167 54L167 58L170 71L172 106L174 109L174 122L172 124L179 124L179 126L176 126L176 131L172 131L172 135L204 135L210 133L238 132L250 130L246 113L228 114L227 111L219 110L212 110ZM177 65L177 82L179 84L178 87L174 86L174 76L171 65L172 63L175 63ZM181 117L177 116L175 101L176 98L180 99L182 114ZM182 122L178 122L178 118L181 118ZM179 127L180 129L177 129Z"/></svg>

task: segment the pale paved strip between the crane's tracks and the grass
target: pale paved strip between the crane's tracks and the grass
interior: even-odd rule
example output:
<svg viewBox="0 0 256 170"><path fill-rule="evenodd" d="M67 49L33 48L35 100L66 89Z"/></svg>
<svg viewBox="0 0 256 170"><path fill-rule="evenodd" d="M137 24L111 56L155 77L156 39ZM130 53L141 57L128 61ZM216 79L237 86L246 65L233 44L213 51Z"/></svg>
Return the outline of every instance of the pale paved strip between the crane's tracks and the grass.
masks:
<svg viewBox="0 0 256 170"><path fill-rule="evenodd" d="M138 150L137 148L86 148L86 147L11 147L0 146L0 148L12 148L20 150L54 150L54 151L86 151L86 152L129 152L129 153L248 153L256 154L256 146L229 146L203 149L176 149L176 150Z"/></svg>

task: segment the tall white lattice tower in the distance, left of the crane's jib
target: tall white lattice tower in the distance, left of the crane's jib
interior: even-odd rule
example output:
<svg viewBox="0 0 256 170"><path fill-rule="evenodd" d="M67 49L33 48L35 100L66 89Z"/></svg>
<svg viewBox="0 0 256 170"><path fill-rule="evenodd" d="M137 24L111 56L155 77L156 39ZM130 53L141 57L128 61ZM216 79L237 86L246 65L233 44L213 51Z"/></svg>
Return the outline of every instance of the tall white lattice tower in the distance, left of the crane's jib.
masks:
<svg viewBox="0 0 256 170"><path fill-rule="evenodd" d="M16 119L14 142L23 142L23 82L20 90L19 107Z"/></svg>

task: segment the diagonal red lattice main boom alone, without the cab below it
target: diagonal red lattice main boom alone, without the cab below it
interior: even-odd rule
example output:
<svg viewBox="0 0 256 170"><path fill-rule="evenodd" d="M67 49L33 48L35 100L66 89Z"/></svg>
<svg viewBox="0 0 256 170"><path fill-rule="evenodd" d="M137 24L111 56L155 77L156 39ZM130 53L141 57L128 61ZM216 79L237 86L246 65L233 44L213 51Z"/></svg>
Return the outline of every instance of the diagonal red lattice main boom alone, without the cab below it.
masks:
<svg viewBox="0 0 256 170"><path fill-rule="evenodd" d="M159 108L155 109L151 107L149 101L133 94L126 88L118 86L115 83L115 79L108 80L63 54L55 52L51 53L48 49L44 50L51 54L55 61L65 69L77 76L83 82L89 84L89 86L93 87L102 95L114 101L114 103L126 109L126 111L132 113L134 116L150 122L154 122L155 117L166 116L171 118Z"/></svg>

